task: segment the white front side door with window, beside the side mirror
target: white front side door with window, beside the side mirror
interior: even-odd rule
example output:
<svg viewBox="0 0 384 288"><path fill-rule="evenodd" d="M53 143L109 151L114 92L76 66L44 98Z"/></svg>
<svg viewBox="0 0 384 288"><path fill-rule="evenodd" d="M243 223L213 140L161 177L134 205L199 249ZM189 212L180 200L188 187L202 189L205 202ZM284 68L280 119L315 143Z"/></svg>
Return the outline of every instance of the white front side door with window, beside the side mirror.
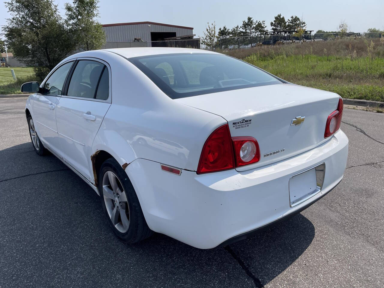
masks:
<svg viewBox="0 0 384 288"><path fill-rule="evenodd" d="M33 122L41 141L54 152L60 150L56 126L56 105L74 61L57 68L43 83L41 93L37 93L33 102Z"/></svg>

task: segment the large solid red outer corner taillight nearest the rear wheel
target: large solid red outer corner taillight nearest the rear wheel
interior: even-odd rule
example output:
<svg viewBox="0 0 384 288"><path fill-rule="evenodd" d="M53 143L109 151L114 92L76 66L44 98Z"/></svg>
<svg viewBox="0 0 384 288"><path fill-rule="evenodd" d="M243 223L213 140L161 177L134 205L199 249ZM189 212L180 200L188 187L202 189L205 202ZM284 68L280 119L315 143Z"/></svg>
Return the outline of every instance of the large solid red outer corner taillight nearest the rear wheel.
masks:
<svg viewBox="0 0 384 288"><path fill-rule="evenodd" d="M235 168L228 124L218 127L208 137L201 151L197 174Z"/></svg>

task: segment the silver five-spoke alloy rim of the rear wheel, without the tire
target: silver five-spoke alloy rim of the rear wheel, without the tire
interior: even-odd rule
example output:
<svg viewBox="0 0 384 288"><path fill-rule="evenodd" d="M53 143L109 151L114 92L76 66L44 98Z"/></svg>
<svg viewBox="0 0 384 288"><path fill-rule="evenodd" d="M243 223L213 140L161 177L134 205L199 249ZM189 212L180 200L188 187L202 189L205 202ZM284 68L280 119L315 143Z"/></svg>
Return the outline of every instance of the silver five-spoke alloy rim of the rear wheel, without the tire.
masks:
<svg viewBox="0 0 384 288"><path fill-rule="evenodd" d="M127 195L112 171L107 171L103 176L103 197L114 227L121 233L127 232L130 219Z"/></svg>

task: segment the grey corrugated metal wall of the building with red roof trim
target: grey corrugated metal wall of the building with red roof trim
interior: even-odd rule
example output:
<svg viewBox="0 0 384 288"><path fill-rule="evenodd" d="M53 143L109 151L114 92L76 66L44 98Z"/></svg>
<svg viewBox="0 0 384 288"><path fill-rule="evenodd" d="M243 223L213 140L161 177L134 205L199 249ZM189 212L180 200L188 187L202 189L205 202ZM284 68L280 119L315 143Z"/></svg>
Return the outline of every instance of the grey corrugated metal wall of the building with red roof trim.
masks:
<svg viewBox="0 0 384 288"><path fill-rule="evenodd" d="M151 25L151 26L148 26ZM133 24L103 27L108 42L133 42L141 38L144 42L151 41L151 32L176 32L176 36L191 35L192 29L177 28L156 24Z"/></svg>

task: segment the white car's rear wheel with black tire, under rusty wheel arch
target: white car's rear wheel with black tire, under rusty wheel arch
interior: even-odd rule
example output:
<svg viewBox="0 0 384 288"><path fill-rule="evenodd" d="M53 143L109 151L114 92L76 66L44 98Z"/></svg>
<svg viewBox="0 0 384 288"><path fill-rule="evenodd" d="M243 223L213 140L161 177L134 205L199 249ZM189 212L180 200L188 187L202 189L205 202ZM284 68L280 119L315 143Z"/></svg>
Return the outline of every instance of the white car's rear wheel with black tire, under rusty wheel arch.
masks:
<svg viewBox="0 0 384 288"><path fill-rule="evenodd" d="M136 243L154 233L147 225L131 181L115 159L109 158L101 165L98 182L101 205L117 237Z"/></svg>

